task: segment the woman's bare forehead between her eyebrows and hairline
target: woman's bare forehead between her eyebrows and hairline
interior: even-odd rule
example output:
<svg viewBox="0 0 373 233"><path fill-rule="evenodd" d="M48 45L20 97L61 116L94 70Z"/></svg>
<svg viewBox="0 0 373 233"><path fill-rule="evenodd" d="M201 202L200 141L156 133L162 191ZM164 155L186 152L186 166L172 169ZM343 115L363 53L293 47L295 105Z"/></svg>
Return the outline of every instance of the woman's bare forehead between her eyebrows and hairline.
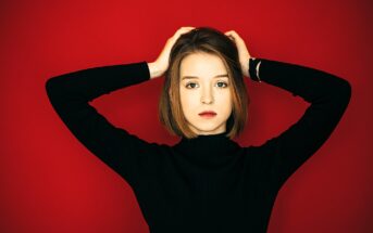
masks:
<svg viewBox="0 0 373 233"><path fill-rule="evenodd" d="M181 63L181 77L214 77L227 74L221 57L208 53L192 53L183 59Z"/></svg>

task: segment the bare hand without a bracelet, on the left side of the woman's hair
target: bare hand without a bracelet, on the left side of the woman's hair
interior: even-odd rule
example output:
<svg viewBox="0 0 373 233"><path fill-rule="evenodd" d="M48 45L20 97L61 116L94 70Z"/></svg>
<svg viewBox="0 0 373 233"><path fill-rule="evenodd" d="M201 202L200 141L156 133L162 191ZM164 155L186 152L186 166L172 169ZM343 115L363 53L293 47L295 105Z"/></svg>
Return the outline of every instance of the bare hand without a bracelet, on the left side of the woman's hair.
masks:
<svg viewBox="0 0 373 233"><path fill-rule="evenodd" d="M157 60L152 63L148 63L150 70L150 78L157 78L162 76L169 68L169 59L171 49L179 38L181 35L186 34L194 29L195 27L181 27L176 33L170 37Z"/></svg>

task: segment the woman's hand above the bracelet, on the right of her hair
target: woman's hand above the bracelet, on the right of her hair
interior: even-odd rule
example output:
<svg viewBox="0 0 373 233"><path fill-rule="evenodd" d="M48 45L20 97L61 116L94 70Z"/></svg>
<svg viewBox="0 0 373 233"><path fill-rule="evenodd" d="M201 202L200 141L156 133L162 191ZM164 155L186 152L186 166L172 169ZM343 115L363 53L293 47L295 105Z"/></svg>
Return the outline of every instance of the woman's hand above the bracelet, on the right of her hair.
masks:
<svg viewBox="0 0 373 233"><path fill-rule="evenodd" d="M235 43L238 50L239 63L245 76L249 77L249 59L251 57L244 39L238 36L235 30L228 30L225 33Z"/></svg>

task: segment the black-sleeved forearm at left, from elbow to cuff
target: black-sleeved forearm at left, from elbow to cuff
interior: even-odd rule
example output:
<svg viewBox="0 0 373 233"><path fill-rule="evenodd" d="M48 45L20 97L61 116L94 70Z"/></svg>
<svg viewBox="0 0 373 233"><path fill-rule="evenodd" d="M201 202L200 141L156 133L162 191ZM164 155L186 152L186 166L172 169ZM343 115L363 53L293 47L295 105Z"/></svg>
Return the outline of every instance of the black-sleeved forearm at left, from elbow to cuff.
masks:
<svg viewBox="0 0 373 233"><path fill-rule="evenodd" d="M150 77L146 62L82 69L46 82L47 93L55 103L91 101L117 89L140 83Z"/></svg>

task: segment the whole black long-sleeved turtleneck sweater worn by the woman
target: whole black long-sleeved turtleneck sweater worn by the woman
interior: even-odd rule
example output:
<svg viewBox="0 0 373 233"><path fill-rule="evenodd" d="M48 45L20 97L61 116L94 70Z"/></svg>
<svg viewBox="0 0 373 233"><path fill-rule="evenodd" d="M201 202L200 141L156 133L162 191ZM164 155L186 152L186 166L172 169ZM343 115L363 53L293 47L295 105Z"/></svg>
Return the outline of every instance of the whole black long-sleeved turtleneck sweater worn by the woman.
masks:
<svg viewBox="0 0 373 233"><path fill-rule="evenodd" d="M71 132L133 187L152 233L266 232L277 192L328 139L351 95L348 81L313 68L261 59L261 81L311 103L260 146L224 133L149 143L111 125L89 102L150 79L148 64L95 67L50 78L49 100Z"/></svg>

